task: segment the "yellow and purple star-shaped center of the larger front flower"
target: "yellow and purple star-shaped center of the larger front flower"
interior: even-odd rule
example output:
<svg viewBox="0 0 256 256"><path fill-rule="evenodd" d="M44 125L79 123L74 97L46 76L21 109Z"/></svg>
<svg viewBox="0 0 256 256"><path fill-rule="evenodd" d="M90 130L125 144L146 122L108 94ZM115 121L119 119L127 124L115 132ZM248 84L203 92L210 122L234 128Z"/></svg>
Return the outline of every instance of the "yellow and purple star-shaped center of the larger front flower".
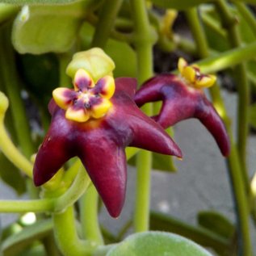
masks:
<svg viewBox="0 0 256 256"><path fill-rule="evenodd" d="M107 114L112 106L110 99L115 93L114 78L105 76L94 84L90 73L85 69L78 69L73 86L74 90L57 88L52 92L57 105L65 109L68 120L83 123L90 118L99 119Z"/></svg>

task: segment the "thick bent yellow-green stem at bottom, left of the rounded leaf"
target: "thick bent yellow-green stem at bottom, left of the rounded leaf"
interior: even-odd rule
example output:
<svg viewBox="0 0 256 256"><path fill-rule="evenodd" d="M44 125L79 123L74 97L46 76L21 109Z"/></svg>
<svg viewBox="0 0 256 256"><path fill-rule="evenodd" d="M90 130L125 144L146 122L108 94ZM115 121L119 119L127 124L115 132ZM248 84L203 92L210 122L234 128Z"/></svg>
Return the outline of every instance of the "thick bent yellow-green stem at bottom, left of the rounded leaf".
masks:
<svg viewBox="0 0 256 256"><path fill-rule="evenodd" d="M61 253L66 256L91 255L94 246L89 241L78 237L75 225L73 207L69 206L64 212L52 215L54 236Z"/></svg>

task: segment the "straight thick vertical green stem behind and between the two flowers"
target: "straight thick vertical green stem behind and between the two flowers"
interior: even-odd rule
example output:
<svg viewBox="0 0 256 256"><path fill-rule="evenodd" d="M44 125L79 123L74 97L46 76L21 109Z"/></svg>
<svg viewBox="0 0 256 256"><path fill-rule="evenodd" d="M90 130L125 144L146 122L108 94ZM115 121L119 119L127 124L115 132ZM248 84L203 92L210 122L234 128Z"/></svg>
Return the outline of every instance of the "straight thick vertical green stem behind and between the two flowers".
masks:
<svg viewBox="0 0 256 256"><path fill-rule="evenodd" d="M145 1L131 0L132 18L134 22L134 46L137 58L137 78L141 84L153 75L153 44L155 38L149 24ZM152 115L152 105L145 106L147 115ZM136 158L136 206L134 225L136 232L149 230L149 202L150 202L150 170L152 155L140 151Z"/></svg>

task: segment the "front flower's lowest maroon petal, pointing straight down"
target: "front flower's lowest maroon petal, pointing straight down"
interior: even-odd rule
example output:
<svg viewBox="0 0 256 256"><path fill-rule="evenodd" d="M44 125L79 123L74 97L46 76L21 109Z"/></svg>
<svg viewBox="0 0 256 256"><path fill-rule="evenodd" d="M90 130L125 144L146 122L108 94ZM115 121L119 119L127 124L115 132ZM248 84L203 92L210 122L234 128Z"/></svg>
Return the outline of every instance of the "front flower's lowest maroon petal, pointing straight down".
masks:
<svg viewBox="0 0 256 256"><path fill-rule="evenodd" d="M106 132L92 130L79 136L79 154L99 195L112 217L124 205L127 170L124 147L116 145Z"/></svg>

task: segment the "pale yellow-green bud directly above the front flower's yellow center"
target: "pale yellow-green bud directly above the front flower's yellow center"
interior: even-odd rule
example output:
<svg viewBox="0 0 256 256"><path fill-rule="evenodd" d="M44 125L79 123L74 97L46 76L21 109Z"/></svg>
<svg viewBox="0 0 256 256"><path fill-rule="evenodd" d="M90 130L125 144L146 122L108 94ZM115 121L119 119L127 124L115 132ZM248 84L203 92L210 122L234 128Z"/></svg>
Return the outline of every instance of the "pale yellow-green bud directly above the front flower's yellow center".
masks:
<svg viewBox="0 0 256 256"><path fill-rule="evenodd" d="M103 78L106 75L112 76L115 63L101 48L91 48L88 51L74 54L66 73L69 77L74 78L78 69L85 69L90 73L94 82L97 82L99 78Z"/></svg>

